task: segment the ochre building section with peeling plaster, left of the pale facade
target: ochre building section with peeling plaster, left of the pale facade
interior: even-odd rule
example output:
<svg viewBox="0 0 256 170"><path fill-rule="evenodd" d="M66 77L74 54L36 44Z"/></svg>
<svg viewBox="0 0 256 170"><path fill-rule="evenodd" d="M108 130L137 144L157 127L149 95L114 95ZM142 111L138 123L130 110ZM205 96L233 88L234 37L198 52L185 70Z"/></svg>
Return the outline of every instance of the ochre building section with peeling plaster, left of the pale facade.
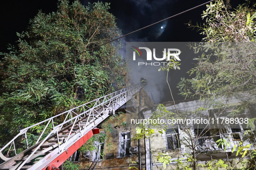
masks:
<svg viewBox="0 0 256 170"><path fill-rule="evenodd" d="M97 126L100 129L99 135L107 134L108 137L102 143L95 142L96 150L85 152L78 150L69 158L69 161L79 164L81 166L79 170L90 168L91 170L129 170L129 167L139 168L137 164L139 162L138 141L132 140L136 134L136 125L131 124L128 120L138 119L139 107L142 111L154 108L154 103L144 89L141 90L140 106L139 99L140 93L138 92L132 100L127 101L119 110L116 110L115 116L108 118ZM140 116L141 119L144 119L143 114ZM146 169L145 140L141 140L140 146L141 169Z"/></svg>

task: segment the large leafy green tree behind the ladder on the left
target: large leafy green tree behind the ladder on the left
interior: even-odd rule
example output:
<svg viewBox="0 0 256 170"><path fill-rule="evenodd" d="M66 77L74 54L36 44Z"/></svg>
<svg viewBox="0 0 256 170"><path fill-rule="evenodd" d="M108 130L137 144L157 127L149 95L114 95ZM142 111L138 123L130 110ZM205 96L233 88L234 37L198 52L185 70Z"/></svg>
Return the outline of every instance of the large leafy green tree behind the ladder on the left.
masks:
<svg viewBox="0 0 256 170"><path fill-rule="evenodd" d="M59 0L58 11L39 11L28 29L17 33L18 46L2 55L3 82L71 57L120 35L109 3L84 7ZM1 141L41 120L99 98L126 82L120 41L105 44L0 87ZM56 120L58 121L58 120ZM35 129L37 132L42 127Z"/></svg>

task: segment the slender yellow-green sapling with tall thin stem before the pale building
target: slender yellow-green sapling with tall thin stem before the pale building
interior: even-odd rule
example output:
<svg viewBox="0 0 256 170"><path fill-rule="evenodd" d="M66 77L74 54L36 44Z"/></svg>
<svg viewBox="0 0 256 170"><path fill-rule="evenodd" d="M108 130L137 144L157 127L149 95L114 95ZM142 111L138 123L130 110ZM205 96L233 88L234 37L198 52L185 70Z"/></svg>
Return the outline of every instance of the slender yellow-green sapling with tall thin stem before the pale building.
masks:
<svg viewBox="0 0 256 170"><path fill-rule="evenodd" d="M175 63L175 66L168 65L165 67L161 67L159 69L159 71L167 70L166 82L168 83L168 85L169 85L169 82L168 82L169 69L177 69L178 65L180 65L178 62L174 60L172 61ZM169 90L170 90L170 93L172 94L172 90L171 89ZM208 101L208 102L211 103L211 101ZM207 168L207 170L218 170L218 169L239 169L239 170L248 169L249 170L249 169L255 168L255 165L250 164L250 161L247 159L247 158L251 160L255 159L255 149L251 148L252 144L244 143L244 141L242 140L240 141L239 145L234 145L234 146L231 145L231 149L233 148L231 152L232 153L235 152L236 156L240 155L240 159L239 160L237 159L237 162L230 164L229 161L224 161L222 159L218 159L218 160L212 159L211 161L206 161L205 164L204 163L199 164L198 157L200 156L200 154L205 154L205 153L216 154L216 151L214 150L224 149L224 152L225 152L226 149L230 149L230 144L233 137L231 137L230 134L223 135L223 132L220 133L221 131L220 128L223 128L221 123L220 125L219 124L216 125L214 123L197 124L196 126L194 126L194 133L191 131L191 126L187 125L186 123L179 123L179 128L180 130L182 130L181 134L183 134L182 136L180 136L180 133L178 134L177 132L178 130L177 124L175 125L175 124L169 123L169 126L171 126L171 129L169 129L170 127L168 128L168 126L166 125L167 124L166 120L176 120L178 122L178 120L181 120L181 119L186 120L186 118L187 119L191 118L191 117L186 117L186 113L188 112L188 110L185 109L184 111L185 115L184 115L182 114L182 112L179 113L178 111L179 109L182 110L182 108L177 108L175 106L175 102L174 102L173 112L167 110L167 108L163 104L159 104L156 111L152 113L150 117L150 119L152 120L151 122L153 123L147 124L146 126L144 126L144 124L140 124L139 127L136 128L136 135L133 137L133 139L135 140L143 139L143 138L149 139L148 142L150 143L149 145L151 145L151 147L147 149L152 153L152 159L156 164L157 169L160 169L159 168L160 165L158 165L156 161L158 161L158 163L162 163L162 166L164 169L166 169L167 166L169 166L172 163L174 164L175 167L169 166L169 169L177 169L177 170L179 169L198 170L200 169L199 167L205 167ZM194 118L195 117L198 118L199 116L199 120L200 120L200 118L202 118L201 117L202 112L205 112L206 110L209 110L209 108L199 107L197 110L191 113L190 116ZM220 115L223 112L224 110L218 112L218 114ZM209 118L211 116L210 112L207 112L207 113L208 114L205 115L205 117ZM159 120L159 119L165 120L165 123L157 123L157 121L156 123L154 123L153 120ZM213 118L211 118L211 120L212 119ZM172 137L170 137L170 139L166 138L166 140L169 140L169 141L165 141L170 145L172 145L172 149L166 148L166 149L169 149L168 152L152 151L153 150L152 148L154 147L151 144L151 138L152 138L152 135L155 135L156 131L158 131L158 134L156 134L155 141L156 141L156 138L159 138L160 134L166 133L167 135L168 131L171 132ZM251 130L244 131L243 132L244 139L248 140L251 134L252 134ZM185 148L180 147L181 144L183 145L183 147L185 146L186 149L189 149L189 151L183 152L182 149L185 149ZM180 148L182 149L180 150ZM217 153L220 154L221 151Z"/></svg>

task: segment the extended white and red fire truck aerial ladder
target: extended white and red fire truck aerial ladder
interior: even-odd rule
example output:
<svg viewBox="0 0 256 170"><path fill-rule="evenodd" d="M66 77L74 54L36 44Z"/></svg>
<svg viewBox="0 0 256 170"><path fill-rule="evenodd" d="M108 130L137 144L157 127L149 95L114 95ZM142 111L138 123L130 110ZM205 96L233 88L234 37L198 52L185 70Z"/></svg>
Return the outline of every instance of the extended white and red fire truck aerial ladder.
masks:
<svg viewBox="0 0 256 170"><path fill-rule="evenodd" d="M100 133L96 128L98 124L114 115L115 110L132 99L145 85L146 82L129 86L20 130L0 149L0 158L4 161L0 164L0 170L58 170L91 136ZM31 142L27 134L37 127L43 127L43 130L39 138ZM19 154L15 143L18 139L26 140L26 149ZM34 145L30 146L31 143ZM14 156L7 157L11 148ZM4 156L2 152L8 149L7 156Z"/></svg>

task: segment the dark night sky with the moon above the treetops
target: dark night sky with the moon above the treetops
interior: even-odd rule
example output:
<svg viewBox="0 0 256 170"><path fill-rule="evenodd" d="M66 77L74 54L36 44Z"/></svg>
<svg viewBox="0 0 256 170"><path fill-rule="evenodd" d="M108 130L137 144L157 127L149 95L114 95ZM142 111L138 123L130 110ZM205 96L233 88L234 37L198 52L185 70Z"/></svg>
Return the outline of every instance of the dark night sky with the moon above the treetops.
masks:
<svg viewBox="0 0 256 170"><path fill-rule="evenodd" d="M81 0L83 5L88 2L93 3L98 0ZM123 35L136 29L145 27L149 24L165 19L169 16L180 13L184 10L198 6L208 0L103 0L110 3L110 13L117 18L117 26L122 30ZM70 1L72 2L72 1ZM233 7L236 7L242 0L231 0ZM29 25L29 19L32 19L42 10L43 13L50 13L57 10L58 0L8 0L1 2L0 5L0 52L8 52L7 44L16 44L16 32L25 31ZM188 13L169 19L165 22L146 28L143 31L128 35L123 39L124 44L129 42L189 42L201 41L203 38L199 32L188 28L190 20L195 25L197 22L203 22L201 13L206 9L206 6L199 7ZM163 27L161 29L161 27ZM123 48L125 49L125 47ZM125 52L122 50L120 54L125 57ZM187 62L185 64L185 62ZM191 59L182 60L185 68L182 68L178 77L170 77L172 79L171 88L175 93L175 100L183 99L177 95L176 88L180 77L186 76L186 72L193 64ZM175 71L176 72L176 71ZM139 80L138 80L139 81ZM154 81L154 78L148 80ZM136 82L135 82L136 83ZM166 82L163 84L166 87ZM149 89L148 89L149 90ZM150 92L147 92L150 94ZM161 99L155 102L169 101L169 95L162 96Z"/></svg>

